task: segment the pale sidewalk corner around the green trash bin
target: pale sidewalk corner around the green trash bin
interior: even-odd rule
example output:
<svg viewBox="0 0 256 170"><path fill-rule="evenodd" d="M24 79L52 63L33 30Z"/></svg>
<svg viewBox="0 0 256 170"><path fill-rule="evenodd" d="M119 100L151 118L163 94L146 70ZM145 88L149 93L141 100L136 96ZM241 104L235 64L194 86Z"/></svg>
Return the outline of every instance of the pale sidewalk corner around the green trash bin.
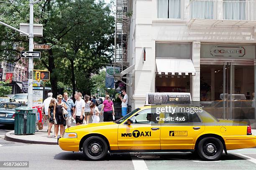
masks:
<svg viewBox="0 0 256 170"><path fill-rule="evenodd" d="M54 128L52 128L52 131L53 129ZM252 129L251 131L253 135L256 135L256 129ZM13 130L5 134L5 140L21 143L57 145L57 139L54 139L54 132L51 133L51 138L47 138L47 126L44 126L44 128L36 132L35 135L14 135Z"/></svg>

